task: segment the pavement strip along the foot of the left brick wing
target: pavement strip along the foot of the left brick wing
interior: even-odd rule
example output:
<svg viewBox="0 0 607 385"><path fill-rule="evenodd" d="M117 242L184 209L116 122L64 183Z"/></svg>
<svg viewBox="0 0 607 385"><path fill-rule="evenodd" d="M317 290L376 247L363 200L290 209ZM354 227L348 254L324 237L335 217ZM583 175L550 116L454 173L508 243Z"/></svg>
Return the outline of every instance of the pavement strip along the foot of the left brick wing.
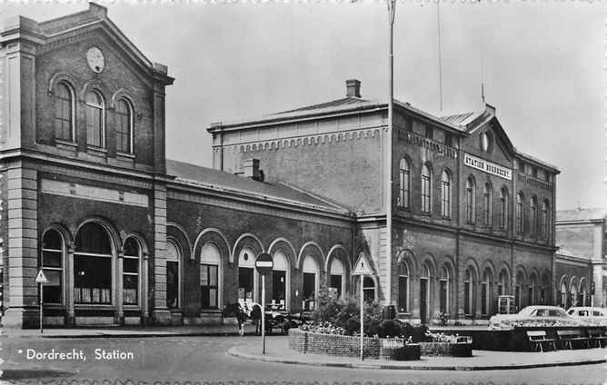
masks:
<svg viewBox="0 0 607 385"><path fill-rule="evenodd" d="M254 334L254 324L244 324L245 334ZM81 327L78 329L38 329L1 328L0 337L9 338L129 338L129 337L170 337L170 336L224 336L238 335L237 325L195 325L195 326L107 326Z"/></svg>

